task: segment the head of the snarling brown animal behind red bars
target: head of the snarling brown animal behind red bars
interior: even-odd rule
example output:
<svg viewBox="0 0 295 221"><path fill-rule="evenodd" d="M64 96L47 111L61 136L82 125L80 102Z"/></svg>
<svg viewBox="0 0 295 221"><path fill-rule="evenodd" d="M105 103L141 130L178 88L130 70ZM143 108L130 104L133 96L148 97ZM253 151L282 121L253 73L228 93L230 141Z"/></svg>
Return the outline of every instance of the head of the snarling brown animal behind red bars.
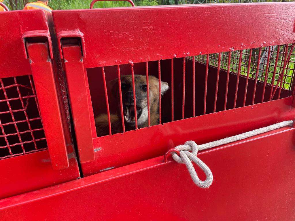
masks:
<svg viewBox="0 0 295 221"><path fill-rule="evenodd" d="M150 110L158 111L159 106L159 80L154 76L149 76L149 100ZM134 75L135 83L135 100L136 100L136 114L138 126L144 124L148 120L148 98L147 98L147 83L145 75ZM119 100L118 93L118 79L112 81L112 90L114 95ZM169 86L167 82L161 81L161 94L163 95ZM132 87L132 76L124 75L121 76L121 89L122 89L122 103L124 121L131 126L135 125L135 111L134 111L134 96ZM150 111L150 115L153 113Z"/></svg>

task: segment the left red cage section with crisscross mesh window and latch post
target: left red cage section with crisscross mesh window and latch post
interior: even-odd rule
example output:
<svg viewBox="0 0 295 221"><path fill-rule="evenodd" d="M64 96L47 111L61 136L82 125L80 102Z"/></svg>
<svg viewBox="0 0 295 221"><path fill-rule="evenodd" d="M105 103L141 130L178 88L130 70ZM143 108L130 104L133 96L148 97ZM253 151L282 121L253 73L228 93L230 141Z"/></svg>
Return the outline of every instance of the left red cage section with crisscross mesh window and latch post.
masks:
<svg viewBox="0 0 295 221"><path fill-rule="evenodd" d="M80 174L72 143L65 139L62 120L64 116L60 114L52 63L53 51L45 12L41 10L10 11L1 13L0 19L5 21L0 25L0 59L2 60L0 77L4 80L8 77L14 79L14 85L9 88L11 90L8 90L1 80L1 89L7 97L9 112L19 136L19 145L23 149L22 156L16 154L0 160L0 167L3 168L0 198L4 198L77 179ZM27 88L30 88L33 94L27 96L31 99L29 101L24 101L27 97L21 95L23 86L17 82L19 76L28 76L30 79L30 87ZM17 98L12 98L14 96L12 86L17 89ZM21 110L24 111L26 117L24 121L14 119L17 117L16 110L13 109L11 102L15 99L21 102ZM26 111L28 103L37 105L40 118L31 119L31 116L28 116ZM46 137L45 144L36 144L45 139L35 138L35 133L41 131L41 128L34 129L31 125L37 119L40 122L42 120L42 130ZM34 151L27 151L24 147L28 141L22 140L24 129L20 129L21 122L27 123L29 127L29 130L24 132L32 136L30 142L35 145ZM2 123L2 126L4 125ZM2 133L4 132L5 128L2 130ZM12 136L13 134L4 133L3 135ZM68 132L66 136L69 136ZM7 146L10 145L9 142L9 140L6 141Z"/></svg>

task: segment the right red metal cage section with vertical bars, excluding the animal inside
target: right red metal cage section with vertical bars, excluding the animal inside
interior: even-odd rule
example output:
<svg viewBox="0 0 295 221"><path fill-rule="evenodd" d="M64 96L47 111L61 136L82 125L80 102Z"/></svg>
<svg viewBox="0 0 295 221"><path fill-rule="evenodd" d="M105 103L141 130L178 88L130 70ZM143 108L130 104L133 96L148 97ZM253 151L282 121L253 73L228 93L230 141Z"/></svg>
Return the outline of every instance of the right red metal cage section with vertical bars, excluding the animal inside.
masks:
<svg viewBox="0 0 295 221"><path fill-rule="evenodd" d="M287 5L293 7L293 4L219 4L114 9L112 14L108 9L53 12L83 174L159 156L191 139L198 131L219 127L213 120L209 120L212 125L204 123L215 115L195 116L292 95L291 18L278 21L271 15L281 13ZM224 16L233 12L235 16ZM89 17L93 18L91 22ZM243 28L236 17L245 21ZM250 26L258 21L260 25ZM107 82L126 74L154 75L171 85L162 100L159 95L160 125L97 137L94 117L100 113L109 115L117 108ZM288 109L287 116L266 119L275 111L268 110L261 116L250 113L248 116L243 109L237 109L248 122L255 123L235 127L237 119L229 115L220 118L230 125L227 130L214 131L214 137L199 137L197 141L230 136L292 115ZM176 121L184 118L190 119ZM196 124L201 119L204 122ZM187 132L179 138L175 136L179 131ZM114 146L117 142L119 145ZM128 148L122 148L126 145Z"/></svg>

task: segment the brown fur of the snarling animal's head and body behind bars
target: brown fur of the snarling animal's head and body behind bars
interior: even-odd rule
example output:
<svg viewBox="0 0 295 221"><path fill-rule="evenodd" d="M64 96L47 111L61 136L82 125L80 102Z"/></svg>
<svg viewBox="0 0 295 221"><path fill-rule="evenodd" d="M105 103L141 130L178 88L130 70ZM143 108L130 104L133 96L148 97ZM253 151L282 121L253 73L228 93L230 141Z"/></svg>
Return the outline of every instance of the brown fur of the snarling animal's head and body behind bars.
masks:
<svg viewBox="0 0 295 221"><path fill-rule="evenodd" d="M135 78L135 94L137 96L136 106L141 108L141 115L137 119L138 128L148 126L147 118L147 92L142 90L142 85L146 85L145 75L134 75ZM125 85L126 88L122 87L122 100L123 106L126 102L124 95L133 90L132 88L132 76L124 75L121 77L121 85ZM118 101L118 110L116 114L110 114L112 134L121 133L122 130L122 118L120 112L120 101L119 101L119 87L118 79L114 79L110 82L112 87L112 93ZM168 83L161 82L161 93L162 95L168 90ZM154 76L149 76L149 100L150 100L150 125L157 125L159 123L159 81ZM107 114L101 114L95 118L97 136L105 136L109 134L109 124ZM125 131L135 129L134 123L128 123L124 121Z"/></svg>

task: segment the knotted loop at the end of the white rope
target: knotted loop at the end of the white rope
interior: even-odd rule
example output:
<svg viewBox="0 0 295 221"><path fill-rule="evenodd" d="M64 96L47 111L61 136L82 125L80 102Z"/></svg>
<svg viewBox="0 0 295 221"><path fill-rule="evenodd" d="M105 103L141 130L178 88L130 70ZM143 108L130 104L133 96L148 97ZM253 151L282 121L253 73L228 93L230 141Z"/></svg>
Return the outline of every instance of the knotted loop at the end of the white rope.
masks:
<svg viewBox="0 0 295 221"><path fill-rule="evenodd" d="M180 152L180 156L178 156L176 152L172 152L173 159L180 164L186 165L193 182L201 188L210 187L213 181L213 174L209 167L197 157L198 145L194 141L186 141L184 145L176 146L175 149ZM196 173L194 165L191 161L198 165L199 168L205 173L206 179L204 181L200 180L198 177L198 174Z"/></svg>

